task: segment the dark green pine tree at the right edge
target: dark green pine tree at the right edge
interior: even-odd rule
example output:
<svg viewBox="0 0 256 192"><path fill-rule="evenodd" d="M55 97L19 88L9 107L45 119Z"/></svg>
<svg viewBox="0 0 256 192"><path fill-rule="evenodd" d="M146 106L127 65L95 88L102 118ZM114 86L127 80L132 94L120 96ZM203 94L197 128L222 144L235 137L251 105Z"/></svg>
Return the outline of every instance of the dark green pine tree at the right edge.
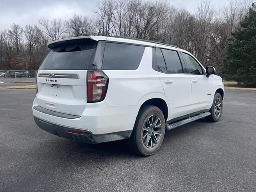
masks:
<svg viewBox="0 0 256 192"><path fill-rule="evenodd" d="M248 14L240 22L240 28L232 33L222 72L226 80L234 80L246 86L256 86L255 3L252 3Z"/></svg>

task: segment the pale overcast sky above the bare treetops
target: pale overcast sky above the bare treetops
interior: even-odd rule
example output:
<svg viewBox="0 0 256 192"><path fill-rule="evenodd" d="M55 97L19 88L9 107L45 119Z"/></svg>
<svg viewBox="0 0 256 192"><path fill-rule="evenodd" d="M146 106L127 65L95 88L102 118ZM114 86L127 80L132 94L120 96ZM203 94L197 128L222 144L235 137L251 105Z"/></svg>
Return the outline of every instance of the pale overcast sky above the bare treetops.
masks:
<svg viewBox="0 0 256 192"><path fill-rule="evenodd" d="M95 16L96 0L0 0L0 30L16 23L38 24L40 18L68 19L73 13ZM227 0L212 0L217 8L224 6ZM176 8L186 8L194 12L200 0L170 0Z"/></svg>

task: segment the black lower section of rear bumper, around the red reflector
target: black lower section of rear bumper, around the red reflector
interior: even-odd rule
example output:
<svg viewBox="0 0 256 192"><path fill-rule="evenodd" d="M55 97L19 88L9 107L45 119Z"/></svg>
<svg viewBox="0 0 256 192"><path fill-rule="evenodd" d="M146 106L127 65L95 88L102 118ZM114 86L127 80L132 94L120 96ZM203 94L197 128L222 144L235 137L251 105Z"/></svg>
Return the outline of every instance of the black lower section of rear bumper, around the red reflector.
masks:
<svg viewBox="0 0 256 192"><path fill-rule="evenodd" d="M51 134L54 134L63 138L75 140L78 142L91 143L91 144L128 139L130 138L130 135L132 133L132 130L127 130L127 131L121 131L121 132L95 135L95 134L92 134L92 132L90 132L89 130L81 130L81 129L74 129L74 128L60 126L57 124L46 122L35 116L34 116L34 120L38 127L40 127L41 129ZM83 134L69 133L67 130L79 131L79 132L83 132Z"/></svg>

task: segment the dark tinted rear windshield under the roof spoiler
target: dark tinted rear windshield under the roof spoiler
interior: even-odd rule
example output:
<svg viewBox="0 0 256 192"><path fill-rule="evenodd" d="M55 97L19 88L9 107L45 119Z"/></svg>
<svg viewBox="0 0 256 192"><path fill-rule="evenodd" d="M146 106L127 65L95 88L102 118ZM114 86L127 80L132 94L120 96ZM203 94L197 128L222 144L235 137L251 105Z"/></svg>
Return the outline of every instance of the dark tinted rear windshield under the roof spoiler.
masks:
<svg viewBox="0 0 256 192"><path fill-rule="evenodd" d="M96 41L62 44L53 48L42 62L39 70L88 69Z"/></svg>

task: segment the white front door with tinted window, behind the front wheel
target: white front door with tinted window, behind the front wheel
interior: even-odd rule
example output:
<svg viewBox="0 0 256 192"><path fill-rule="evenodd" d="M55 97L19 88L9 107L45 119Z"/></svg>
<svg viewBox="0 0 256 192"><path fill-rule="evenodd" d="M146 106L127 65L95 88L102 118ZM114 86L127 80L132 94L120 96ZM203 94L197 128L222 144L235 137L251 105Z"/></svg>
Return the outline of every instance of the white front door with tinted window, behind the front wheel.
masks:
<svg viewBox="0 0 256 192"><path fill-rule="evenodd" d="M198 111L209 108L212 98L212 80L207 78L202 66L187 53L182 53L185 60L186 72L190 76L191 110Z"/></svg>

